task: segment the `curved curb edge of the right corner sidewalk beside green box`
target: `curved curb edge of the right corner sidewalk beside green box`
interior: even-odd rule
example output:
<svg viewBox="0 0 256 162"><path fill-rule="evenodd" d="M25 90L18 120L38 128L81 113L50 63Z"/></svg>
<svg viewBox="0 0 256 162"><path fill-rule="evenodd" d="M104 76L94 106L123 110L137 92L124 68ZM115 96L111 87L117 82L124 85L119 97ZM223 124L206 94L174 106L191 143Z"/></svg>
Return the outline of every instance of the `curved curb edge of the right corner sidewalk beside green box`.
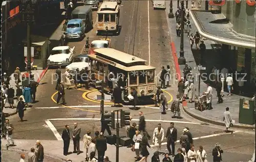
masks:
<svg viewBox="0 0 256 162"><path fill-rule="evenodd" d="M220 126L226 126L224 122L221 122L221 121L216 121L216 120L212 120L212 119L209 119L209 118L204 118L202 116L199 116L195 113L191 113L189 111L187 111L188 107L184 104L182 104L182 107L183 107L183 110L185 113L187 113L188 115L190 115L191 117L193 118L196 118L200 121L203 121L203 122L206 122L206 123L211 123L211 124L215 124L215 125L220 125ZM242 124L233 124L233 127L235 128L241 128L241 129L255 129L255 126L250 126L250 125L242 125Z"/></svg>

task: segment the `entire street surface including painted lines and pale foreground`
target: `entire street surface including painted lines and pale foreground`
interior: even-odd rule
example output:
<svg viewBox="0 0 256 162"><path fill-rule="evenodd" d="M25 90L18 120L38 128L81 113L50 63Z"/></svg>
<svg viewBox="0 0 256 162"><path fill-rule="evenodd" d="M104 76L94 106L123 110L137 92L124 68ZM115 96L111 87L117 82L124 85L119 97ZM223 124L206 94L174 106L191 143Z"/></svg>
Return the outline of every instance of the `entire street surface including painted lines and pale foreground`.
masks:
<svg viewBox="0 0 256 162"><path fill-rule="evenodd" d="M169 5L168 1L166 1L166 6L167 5ZM175 11L176 8L174 9L174 12ZM96 25L96 12L97 11L93 12L94 25ZM128 106L123 106L120 109L131 112L131 116L133 117L132 122L136 122L137 124L139 122L138 113L140 111L143 112L146 119L146 130L150 136L152 136L153 130L157 127L158 123L162 124L162 127L166 132L170 122L174 122L174 127L178 130L177 140L180 140L182 130L185 127L188 127L193 138L195 138L195 149L198 150L200 145L203 146L208 155L208 161L212 161L211 151L216 143L220 143L221 148L224 150L224 153L222 154L223 161L248 161L251 159L255 148L254 130L230 128L230 130L233 130L233 133L225 133L224 126L208 124L194 119L187 115L183 110L181 110L183 119L171 118L173 113L170 112L170 105L172 104L172 101L176 99L178 82L176 79L175 63L170 44L172 42L171 39L177 38L170 38L167 20L168 17L166 18L165 10L154 10L152 1L122 1L119 23L121 26L120 33L117 36L108 36L108 38L111 39L111 48L147 60L147 64L156 67L157 75L160 75L161 73L161 66L164 66L166 69L166 65L169 65L172 80L174 81L170 82L171 87L164 90L164 94L169 101L169 109L167 110L166 115L161 115L159 108L152 105L141 105L140 109L136 111L129 109ZM84 37L83 40L68 42L68 46L71 48L75 46L74 50L76 56L84 53L84 45L87 37L90 38L90 42L99 40L103 37L96 35L96 30L96 26L94 26L94 28L86 34L86 37ZM175 33L176 31L172 32ZM179 44L176 44L176 48L178 47ZM36 140L51 140L57 141L56 146L58 143L59 147L62 149L62 145L60 145L62 140L61 133L66 124L70 125L71 131L74 129L74 122L77 122L78 127L81 127L80 145L82 143L82 137L87 131L91 131L92 136L94 136L95 131L100 131L100 103L93 99L88 99L89 94L95 89L92 87L90 90L84 88L75 89L74 85L72 85L70 90L65 90L67 105L57 104L55 70L56 69L54 68L48 69L44 77L40 80L40 83L42 84L37 87L36 91L38 102L34 103L33 106L28 108L25 112L24 119L27 121L18 122L18 115L8 117L10 122L14 125L14 141L34 140L35 143ZM61 72L64 73L65 68L61 69ZM157 82L159 85L159 79L157 79ZM104 111L108 112L117 109L119 109L119 107L111 107L111 104L108 103L105 104L104 107ZM220 118L222 118L222 116ZM111 130L112 133L116 134L116 130ZM106 130L104 135L108 136ZM120 136L126 136L125 128L120 129ZM166 150L166 139L164 139L163 142L165 144L162 146L162 151L168 152ZM148 143L152 145L152 139L149 140ZM16 145L18 147L19 144ZM30 150L31 147L24 149ZM176 153L179 147L180 144L177 142ZM111 161L115 161L115 148L114 146L110 148L113 150L108 149L105 155L109 156ZM69 151L73 151L72 149L73 144L71 144ZM120 149L125 151L125 153L120 155L119 161L134 161L135 153L131 152L130 148L122 147ZM154 150L150 151L148 161L151 161L153 152L156 151L156 148L153 149ZM84 151L83 144L81 150ZM47 152L46 149L45 152ZM7 150L4 150L3 155L8 158L2 158L2 161L15 161L19 158L18 155L15 155L15 158L14 155L12 157L12 154ZM59 156L63 156L62 153ZM75 156L76 155L72 155L73 161L81 161L82 159L84 160L86 155L81 153L80 155L77 155L80 156L79 158L77 157L77 159L75 159ZM160 157L160 160L162 158L163 156ZM57 160L47 157L45 158L45 161Z"/></svg>

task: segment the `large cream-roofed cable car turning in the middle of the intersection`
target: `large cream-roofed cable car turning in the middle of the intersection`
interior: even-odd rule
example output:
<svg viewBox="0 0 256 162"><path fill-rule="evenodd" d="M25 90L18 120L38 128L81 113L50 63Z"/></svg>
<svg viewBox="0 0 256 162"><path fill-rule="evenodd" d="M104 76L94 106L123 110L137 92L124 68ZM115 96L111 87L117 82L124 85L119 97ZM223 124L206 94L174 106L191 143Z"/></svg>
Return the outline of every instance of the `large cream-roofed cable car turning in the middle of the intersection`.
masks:
<svg viewBox="0 0 256 162"><path fill-rule="evenodd" d="M153 96L156 89L156 68L146 64L146 60L129 55L113 48L95 49L94 55L88 55L91 73L94 80L104 80L104 89L113 92L113 85L126 89L126 95L132 89L138 92L138 97ZM112 74L116 79L111 79ZM122 82L118 78L122 76ZM124 97L124 98L125 98Z"/></svg>

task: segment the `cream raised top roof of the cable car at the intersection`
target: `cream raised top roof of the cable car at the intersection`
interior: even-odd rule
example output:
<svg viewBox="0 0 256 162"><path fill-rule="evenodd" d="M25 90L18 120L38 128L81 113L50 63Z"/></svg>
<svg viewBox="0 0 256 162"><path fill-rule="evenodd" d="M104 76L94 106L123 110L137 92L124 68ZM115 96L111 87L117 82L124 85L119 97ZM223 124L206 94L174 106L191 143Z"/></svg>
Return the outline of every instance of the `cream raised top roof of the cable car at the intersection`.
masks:
<svg viewBox="0 0 256 162"><path fill-rule="evenodd" d="M113 58L114 60L123 62L125 64L130 64L135 62L147 62L146 60L135 57L133 55L129 55L127 53L124 53L122 51L119 51L113 48L98 48L98 49L94 49L94 51L106 57L110 57L110 58Z"/></svg>

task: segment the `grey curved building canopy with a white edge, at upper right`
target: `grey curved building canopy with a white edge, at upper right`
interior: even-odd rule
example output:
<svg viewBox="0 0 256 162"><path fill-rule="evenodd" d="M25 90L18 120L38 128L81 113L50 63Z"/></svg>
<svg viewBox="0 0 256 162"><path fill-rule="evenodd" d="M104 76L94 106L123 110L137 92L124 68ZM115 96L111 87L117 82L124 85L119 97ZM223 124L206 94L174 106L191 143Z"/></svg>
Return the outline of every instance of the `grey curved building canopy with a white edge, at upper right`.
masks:
<svg viewBox="0 0 256 162"><path fill-rule="evenodd" d="M234 32L231 23L211 23L225 19L224 15L192 10L190 16L202 37L223 44L255 49L255 37Z"/></svg>

